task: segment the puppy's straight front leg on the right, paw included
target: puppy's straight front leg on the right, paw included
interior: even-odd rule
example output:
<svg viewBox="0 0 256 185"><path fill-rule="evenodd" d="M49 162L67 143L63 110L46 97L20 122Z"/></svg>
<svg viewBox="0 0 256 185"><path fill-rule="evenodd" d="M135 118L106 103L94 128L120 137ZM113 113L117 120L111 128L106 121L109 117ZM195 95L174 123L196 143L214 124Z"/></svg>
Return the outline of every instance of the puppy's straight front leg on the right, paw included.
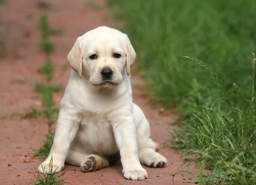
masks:
<svg viewBox="0 0 256 185"><path fill-rule="evenodd" d="M119 116L122 113L119 114ZM116 144L120 150L124 177L132 180L143 180L148 177L142 168L136 142L136 127L133 115L116 118L118 122L113 125Z"/></svg>

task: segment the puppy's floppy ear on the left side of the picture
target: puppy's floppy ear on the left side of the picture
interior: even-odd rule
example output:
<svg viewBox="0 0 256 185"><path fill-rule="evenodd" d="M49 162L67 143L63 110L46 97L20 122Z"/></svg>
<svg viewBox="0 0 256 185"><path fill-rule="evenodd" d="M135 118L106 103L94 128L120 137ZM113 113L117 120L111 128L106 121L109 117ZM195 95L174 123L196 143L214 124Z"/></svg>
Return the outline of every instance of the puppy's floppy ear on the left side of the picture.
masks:
<svg viewBox="0 0 256 185"><path fill-rule="evenodd" d="M81 37L76 39L73 48L67 55L67 60L74 71L77 72L79 77L82 75L82 49L83 43L81 42Z"/></svg>

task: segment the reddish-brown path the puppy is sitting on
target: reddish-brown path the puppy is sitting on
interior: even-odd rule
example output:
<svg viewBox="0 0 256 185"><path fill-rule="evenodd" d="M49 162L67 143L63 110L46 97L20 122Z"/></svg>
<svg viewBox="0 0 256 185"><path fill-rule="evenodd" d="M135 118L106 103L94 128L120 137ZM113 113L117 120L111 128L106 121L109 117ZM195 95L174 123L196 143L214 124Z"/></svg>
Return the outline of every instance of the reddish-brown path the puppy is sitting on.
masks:
<svg viewBox="0 0 256 185"><path fill-rule="evenodd" d="M61 29L61 35L52 36L55 50L51 56L55 65L52 83L67 84L70 67L67 64L67 54L76 38L97 26L110 26L108 8L105 0L48 0L46 7L38 4L38 0L8 0L7 5L0 8L1 20L9 23L6 47L7 57L0 59L0 185L24 185L35 180L32 169L38 168L41 159L33 159L31 148L39 148L42 139L48 133L48 125L41 119L21 119L30 107L40 108L41 98L33 91L36 81L44 81L44 76L38 69L45 62L45 55L39 47L41 40L38 22L41 14L47 9L49 21L53 28ZM16 80L15 80L16 79ZM17 81L19 79L19 81ZM132 74L132 83L144 83ZM170 138L168 129L172 129L172 116L162 116L158 110L152 109L148 100L143 98L141 90L133 86L134 102L145 112L149 122L160 123L151 125L151 135L155 142L163 143ZM54 100L59 106L63 93L55 93ZM118 185L119 183L140 185L169 185L174 177L175 185L193 178L187 173L176 173L182 165L183 158L169 147L160 147L163 156L168 160L165 168L147 168L148 179L134 182L124 179L122 166L110 166L96 172L83 173L80 168L66 165L64 177L73 185ZM29 159L31 162L22 162ZM10 164L10 165L8 165ZM74 171L76 169L76 171ZM194 173L198 169L189 168Z"/></svg>

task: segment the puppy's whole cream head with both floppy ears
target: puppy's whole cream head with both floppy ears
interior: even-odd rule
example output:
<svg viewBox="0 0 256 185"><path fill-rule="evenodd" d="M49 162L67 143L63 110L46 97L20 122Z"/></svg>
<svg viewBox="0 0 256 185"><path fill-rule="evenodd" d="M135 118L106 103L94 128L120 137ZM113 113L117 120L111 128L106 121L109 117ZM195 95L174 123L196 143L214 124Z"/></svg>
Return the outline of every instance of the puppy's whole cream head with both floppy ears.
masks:
<svg viewBox="0 0 256 185"><path fill-rule="evenodd" d="M116 29L100 26L77 38L67 55L78 75L94 86L119 84L130 74L136 53L128 36Z"/></svg>

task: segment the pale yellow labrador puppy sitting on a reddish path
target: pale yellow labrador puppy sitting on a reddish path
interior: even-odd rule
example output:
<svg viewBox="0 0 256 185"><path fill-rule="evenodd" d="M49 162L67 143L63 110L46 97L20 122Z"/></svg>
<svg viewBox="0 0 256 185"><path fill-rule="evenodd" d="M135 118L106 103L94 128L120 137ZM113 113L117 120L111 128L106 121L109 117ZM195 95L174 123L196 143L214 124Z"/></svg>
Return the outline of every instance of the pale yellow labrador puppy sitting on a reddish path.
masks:
<svg viewBox="0 0 256 185"><path fill-rule="evenodd" d="M82 171L109 166L121 156L124 177L148 177L141 164L161 168L143 111L132 100L130 67L136 53L127 35L106 26L77 38L67 59L72 67L58 116L55 137L40 173L61 171L66 161Z"/></svg>

